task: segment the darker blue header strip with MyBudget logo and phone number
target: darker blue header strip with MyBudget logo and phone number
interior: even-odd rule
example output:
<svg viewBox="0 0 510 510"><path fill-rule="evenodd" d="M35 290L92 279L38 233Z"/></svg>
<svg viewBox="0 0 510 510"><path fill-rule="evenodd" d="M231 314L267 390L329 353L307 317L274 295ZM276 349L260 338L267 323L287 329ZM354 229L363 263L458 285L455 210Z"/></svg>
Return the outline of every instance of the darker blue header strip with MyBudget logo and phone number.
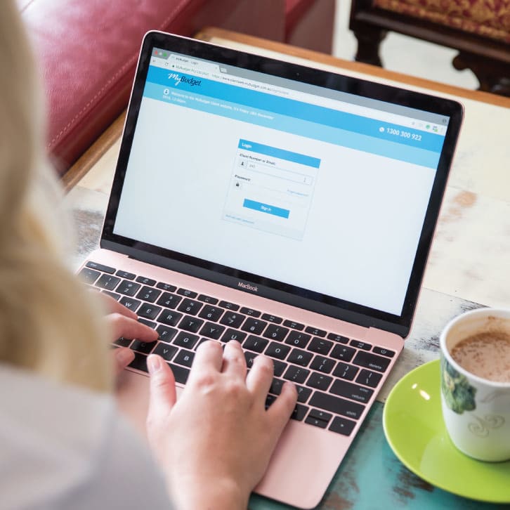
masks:
<svg viewBox="0 0 510 510"><path fill-rule="evenodd" d="M418 131L407 126L361 117L360 115L340 112L322 106L310 105L309 103L252 91L202 77L192 77L180 72L169 72L169 70L162 69L161 67L151 65L147 81L153 84L168 86L171 89L197 93L219 100L228 100L230 103L256 107L268 112L287 115L316 124L331 126L336 129L353 131L401 145L434 152L440 152L443 148L444 136L436 133Z"/></svg>

